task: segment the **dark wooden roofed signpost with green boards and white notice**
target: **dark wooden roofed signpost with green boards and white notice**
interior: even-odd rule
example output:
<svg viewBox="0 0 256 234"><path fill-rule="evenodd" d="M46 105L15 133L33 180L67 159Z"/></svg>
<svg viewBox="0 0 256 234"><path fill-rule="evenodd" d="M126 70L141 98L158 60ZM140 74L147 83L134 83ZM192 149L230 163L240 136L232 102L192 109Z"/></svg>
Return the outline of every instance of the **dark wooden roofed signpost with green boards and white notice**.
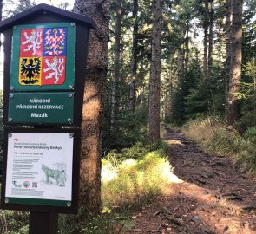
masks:
<svg viewBox="0 0 256 234"><path fill-rule="evenodd" d="M1 209L30 211L30 234L56 234L77 213L87 16L39 4L0 23L4 35ZM26 126L26 127L24 127Z"/></svg>

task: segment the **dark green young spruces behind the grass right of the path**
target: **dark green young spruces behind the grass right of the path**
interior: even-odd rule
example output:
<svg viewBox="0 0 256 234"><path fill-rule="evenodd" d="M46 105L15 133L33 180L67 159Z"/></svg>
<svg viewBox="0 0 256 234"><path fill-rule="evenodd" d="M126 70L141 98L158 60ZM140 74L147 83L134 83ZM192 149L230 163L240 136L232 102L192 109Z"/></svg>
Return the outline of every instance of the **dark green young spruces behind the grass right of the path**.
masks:
<svg viewBox="0 0 256 234"><path fill-rule="evenodd" d="M177 124L208 114L223 115L225 103L224 69L213 67L213 75L203 80L199 61L194 60L174 93L172 119Z"/></svg>

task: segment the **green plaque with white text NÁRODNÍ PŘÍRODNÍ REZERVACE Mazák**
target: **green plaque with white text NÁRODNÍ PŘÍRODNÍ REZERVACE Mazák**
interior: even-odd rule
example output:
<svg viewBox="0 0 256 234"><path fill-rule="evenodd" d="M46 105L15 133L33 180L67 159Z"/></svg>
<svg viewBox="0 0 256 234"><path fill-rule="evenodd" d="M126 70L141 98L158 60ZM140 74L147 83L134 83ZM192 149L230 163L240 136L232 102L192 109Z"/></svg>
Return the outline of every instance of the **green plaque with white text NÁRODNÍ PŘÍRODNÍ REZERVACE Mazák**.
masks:
<svg viewBox="0 0 256 234"><path fill-rule="evenodd" d="M74 92L12 93L9 98L10 124L73 124Z"/></svg>

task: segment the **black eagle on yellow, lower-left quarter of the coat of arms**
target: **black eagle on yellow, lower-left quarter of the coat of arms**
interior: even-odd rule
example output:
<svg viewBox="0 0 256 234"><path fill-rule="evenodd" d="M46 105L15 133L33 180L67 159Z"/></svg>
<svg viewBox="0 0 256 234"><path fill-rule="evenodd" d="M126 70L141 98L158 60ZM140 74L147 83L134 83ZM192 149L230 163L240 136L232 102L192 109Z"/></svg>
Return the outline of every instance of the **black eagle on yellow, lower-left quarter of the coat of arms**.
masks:
<svg viewBox="0 0 256 234"><path fill-rule="evenodd" d="M25 75L21 81L24 84L35 84L39 80L35 78L35 75L40 74L41 61L39 58L23 58L21 61L21 75Z"/></svg>

